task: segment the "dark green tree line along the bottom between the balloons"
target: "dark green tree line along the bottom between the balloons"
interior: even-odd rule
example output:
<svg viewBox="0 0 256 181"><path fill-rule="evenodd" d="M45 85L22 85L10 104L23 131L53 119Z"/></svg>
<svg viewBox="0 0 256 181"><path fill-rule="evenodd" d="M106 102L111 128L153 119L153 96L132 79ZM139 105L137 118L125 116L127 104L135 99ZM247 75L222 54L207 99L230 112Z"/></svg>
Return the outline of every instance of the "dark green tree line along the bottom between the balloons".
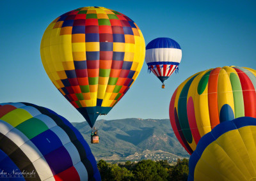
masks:
<svg viewBox="0 0 256 181"><path fill-rule="evenodd" d="M188 159L178 159L175 165L168 161L142 160L138 163L126 161L125 164L110 164L100 160L98 165L102 181L105 180L188 180Z"/></svg>

